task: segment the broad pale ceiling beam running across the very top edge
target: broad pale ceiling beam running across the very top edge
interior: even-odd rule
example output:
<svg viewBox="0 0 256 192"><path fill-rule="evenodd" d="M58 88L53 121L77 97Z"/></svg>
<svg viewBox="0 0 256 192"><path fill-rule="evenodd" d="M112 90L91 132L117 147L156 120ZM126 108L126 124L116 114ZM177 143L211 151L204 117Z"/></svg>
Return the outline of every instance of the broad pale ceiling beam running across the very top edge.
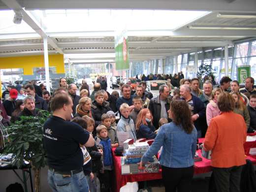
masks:
<svg viewBox="0 0 256 192"><path fill-rule="evenodd" d="M20 0L20 3L27 10L123 8L256 12L255 0L236 0L232 3L230 0ZM1 5L1 8L4 6Z"/></svg>

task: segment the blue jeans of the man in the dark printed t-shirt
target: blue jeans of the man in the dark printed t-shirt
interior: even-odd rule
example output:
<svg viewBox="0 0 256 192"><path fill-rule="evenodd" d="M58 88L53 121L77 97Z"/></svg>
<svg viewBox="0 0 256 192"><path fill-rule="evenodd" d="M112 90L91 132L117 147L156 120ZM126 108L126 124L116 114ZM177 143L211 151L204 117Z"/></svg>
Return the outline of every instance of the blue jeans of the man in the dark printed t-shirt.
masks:
<svg viewBox="0 0 256 192"><path fill-rule="evenodd" d="M48 170L48 184L53 192L89 192L83 171L65 176Z"/></svg>

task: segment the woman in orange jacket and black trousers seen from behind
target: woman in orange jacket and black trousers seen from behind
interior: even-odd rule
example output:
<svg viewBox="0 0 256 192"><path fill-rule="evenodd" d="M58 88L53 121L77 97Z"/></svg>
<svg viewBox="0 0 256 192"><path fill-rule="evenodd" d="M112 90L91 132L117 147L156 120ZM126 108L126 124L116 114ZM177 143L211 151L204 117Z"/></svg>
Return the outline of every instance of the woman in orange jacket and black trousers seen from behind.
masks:
<svg viewBox="0 0 256 192"><path fill-rule="evenodd" d="M217 192L239 192L246 163L246 124L241 115L233 112L235 103L230 94L221 94L217 105L221 114L211 120L203 147L205 151L212 150L211 165Z"/></svg>

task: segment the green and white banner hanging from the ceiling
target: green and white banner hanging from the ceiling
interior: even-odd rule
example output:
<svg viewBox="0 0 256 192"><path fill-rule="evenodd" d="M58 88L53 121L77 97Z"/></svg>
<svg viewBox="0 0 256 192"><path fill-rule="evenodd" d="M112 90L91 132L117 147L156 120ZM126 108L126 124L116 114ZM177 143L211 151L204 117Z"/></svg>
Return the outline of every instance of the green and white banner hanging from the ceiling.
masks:
<svg viewBox="0 0 256 192"><path fill-rule="evenodd" d="M129 69L127 30L115 33L116 70Z"/></svg>

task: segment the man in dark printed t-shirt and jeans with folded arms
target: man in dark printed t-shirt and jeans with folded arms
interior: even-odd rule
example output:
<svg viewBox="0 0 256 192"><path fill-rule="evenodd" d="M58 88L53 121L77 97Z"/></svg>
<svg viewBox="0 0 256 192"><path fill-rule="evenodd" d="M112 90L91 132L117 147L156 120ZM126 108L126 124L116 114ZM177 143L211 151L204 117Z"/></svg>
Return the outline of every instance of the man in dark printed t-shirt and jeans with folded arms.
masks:
<svg viewBox="0 0 256 192"><path fill-rule="evenodd" d="M48 158L48 183L54 192L88 192L80 145L92 147L94 138L76 123L69 122L72 99L57 93L51 100L53 115L43 127L43 143Z"/></svg>

